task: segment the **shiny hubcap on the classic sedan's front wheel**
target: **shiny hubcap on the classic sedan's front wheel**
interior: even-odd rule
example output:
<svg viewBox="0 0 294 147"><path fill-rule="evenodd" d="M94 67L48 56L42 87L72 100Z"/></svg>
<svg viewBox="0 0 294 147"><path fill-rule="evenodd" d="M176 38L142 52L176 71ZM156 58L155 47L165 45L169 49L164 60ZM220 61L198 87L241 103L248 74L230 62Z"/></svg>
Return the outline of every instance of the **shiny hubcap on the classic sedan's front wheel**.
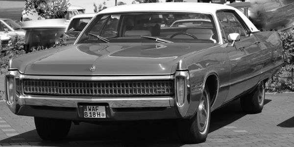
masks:
<svg viewBox="0 0 294 147"><path fill-rule="evenodd" d="M198 121L198 129L200 132L204 132L207 125L208 118L208 105L206 98L204 96L201 97L198 111L197 111L197 121Z"/></svg>

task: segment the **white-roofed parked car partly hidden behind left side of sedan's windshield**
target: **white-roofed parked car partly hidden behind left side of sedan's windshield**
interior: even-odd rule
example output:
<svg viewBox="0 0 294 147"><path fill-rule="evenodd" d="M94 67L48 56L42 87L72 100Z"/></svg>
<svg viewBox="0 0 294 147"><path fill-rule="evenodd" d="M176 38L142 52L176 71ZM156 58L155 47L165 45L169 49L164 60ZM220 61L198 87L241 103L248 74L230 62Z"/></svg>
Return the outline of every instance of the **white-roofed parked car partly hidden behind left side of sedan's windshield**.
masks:
<svg viewBox="0 0 294 147"><path fill-rule="evenodd" d="M78 33L80 33L85 26L91 21L91 19L96 15L96 13L89 14L79 14L73 16L69 25L67 25L65 34L69 36L67 40L68 44L73 44Z"/></svg>

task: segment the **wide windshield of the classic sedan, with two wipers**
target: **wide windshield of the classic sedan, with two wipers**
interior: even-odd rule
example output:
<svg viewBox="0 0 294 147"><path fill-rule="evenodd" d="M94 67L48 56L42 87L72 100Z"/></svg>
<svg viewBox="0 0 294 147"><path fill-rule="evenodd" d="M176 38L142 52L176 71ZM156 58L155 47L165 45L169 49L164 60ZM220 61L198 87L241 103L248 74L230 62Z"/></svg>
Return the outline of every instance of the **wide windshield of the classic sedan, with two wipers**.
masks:
<svg viewBox="0 0 294 147"><path fill-rule="evenodd" d="M218 43L212 16L204 13L138 12L98 15L85 28L77 43L102 43L97 36L108 39L110 43L145 43L158 39L173 43ZM142 36L154 37L155 40Z"/></svg>

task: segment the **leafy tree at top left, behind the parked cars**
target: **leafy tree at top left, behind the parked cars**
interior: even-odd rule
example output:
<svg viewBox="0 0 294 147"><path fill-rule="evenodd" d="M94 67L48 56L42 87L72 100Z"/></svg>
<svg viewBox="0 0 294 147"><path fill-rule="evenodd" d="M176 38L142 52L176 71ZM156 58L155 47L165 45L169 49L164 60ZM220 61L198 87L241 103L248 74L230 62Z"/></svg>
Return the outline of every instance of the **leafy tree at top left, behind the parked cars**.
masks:
<svg viewBox="0 0 294 147"><path fill-rule="evenodd" d="M25 14L38 13L45 19L65 18L69 0L25 0Z"/></svg>

